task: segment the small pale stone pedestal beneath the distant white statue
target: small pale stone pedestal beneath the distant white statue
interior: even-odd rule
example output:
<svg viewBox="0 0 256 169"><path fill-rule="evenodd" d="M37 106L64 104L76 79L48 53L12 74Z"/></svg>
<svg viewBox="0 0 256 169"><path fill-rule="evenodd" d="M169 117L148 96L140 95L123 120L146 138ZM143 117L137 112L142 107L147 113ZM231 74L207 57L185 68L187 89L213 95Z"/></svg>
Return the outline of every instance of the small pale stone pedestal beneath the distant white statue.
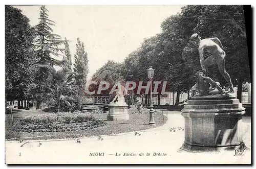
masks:
<svg viewBox="0 0 256 169"><path fill-rule="evenodd" d="M108 120L128 120L128 105L124 103L113 103L109 105Z"/></svg>

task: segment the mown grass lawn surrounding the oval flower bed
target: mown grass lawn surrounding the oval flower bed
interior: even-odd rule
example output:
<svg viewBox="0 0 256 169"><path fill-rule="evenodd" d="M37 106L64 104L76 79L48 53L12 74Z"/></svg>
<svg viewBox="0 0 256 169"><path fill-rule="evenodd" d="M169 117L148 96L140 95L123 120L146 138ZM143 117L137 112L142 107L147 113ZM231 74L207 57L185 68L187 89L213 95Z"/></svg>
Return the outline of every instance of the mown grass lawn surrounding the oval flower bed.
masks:
<svg viewBox="0 0 256 169"><path fill-rule="evenodd" d="M93 117L96 119L102 119L104 120L104 123L106 125L104 126L97 126L97 128L87 128L83 130L76 130L76 131L60 131L60 132L17 132L12 127L12 120L11 120L11 114L6 114L6 139L10 138L18 138L18 137L35 137L35 136L45 136L45 135L51 135L47 136L47 139L55 139L55 138L69 138L72 137L71 135L79 134L83 137L86 136L100 136L100 135L109 135L109 134L118 134L118 133L124 133L124 132L135 132L140 131L144 129L151 129L153 126L148 125L149 120L149 110L144 109L143 114L135 113L137 112L137 109L132 107L128 109L129 113L129 120L119 120L119 121L108 121L107 119L107 113L101 113L101 114L93 114ZM20 119L24 119L27 116L30 115L40 115L40 114L47 114L49 112L44 112L42 110L22 110L22 111L14 111L13 112L13 120L14 120L14 126L18 124ZM167 118L163 115L161 112L155 112L154 118L157 126L162 126ZM73 125L80 125L81 123L74 123ZM70 124L67 124L70 125ZM58 135L58 136L54 136ZM59 135L66 135L66 136L59 136ZM42 137L41 137L42 138ZM41 139L41 138L27 138L27 139ZM45 139L45 138L44 138ZM25 139L24 139L25 140Z"/></svg>

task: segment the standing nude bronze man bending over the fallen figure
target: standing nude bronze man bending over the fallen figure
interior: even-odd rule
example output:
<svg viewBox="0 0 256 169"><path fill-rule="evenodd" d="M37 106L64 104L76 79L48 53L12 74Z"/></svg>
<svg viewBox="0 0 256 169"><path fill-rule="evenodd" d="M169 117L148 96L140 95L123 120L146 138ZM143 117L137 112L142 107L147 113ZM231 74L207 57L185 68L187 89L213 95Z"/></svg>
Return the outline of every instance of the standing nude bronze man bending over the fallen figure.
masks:
<svg viewBox="0 0 256 169"><path fill-rule="evenodd" d="M202 67L202 71L206 73L208 66L214 63L217 63L221 75L225 78L225 80L228 83L230 92L233 93L234 92L233 84L225 68L226 54L224 52L224 47L222 46L221 41L218 38L206 38L201 40L198 34L191 35L190 40L195 45L199 46L198 51L199 51L200 64ZM204 50L211 53L211 56L209 56L205 60L204 60Z"/></svg>

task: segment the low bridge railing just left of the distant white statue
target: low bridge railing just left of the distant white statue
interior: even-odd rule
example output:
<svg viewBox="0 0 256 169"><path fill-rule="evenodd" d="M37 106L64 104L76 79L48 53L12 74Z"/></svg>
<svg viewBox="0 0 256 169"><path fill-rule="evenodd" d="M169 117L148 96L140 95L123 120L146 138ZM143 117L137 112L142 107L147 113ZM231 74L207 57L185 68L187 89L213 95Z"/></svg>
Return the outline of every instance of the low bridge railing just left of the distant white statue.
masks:
<svg viewBox="0 0 256 169"><path fill-rule="evenodd" d="M84 96L81 98L82 104L109 104L110 96Z"/></svg>

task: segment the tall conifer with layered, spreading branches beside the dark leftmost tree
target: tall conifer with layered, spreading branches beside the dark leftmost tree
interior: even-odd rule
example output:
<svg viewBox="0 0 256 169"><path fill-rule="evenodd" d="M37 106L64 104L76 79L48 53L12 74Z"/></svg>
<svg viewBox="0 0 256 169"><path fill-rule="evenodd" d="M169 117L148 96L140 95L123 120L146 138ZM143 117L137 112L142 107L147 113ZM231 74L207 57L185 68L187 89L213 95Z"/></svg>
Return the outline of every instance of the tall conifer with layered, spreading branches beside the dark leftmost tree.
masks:
<svg viewBox="0 0 256 169"><path fill-rule="evenodd" d="M63 66L66 63L65 60L57 60L54 57L58 57L60 52L63 53L65 49L59 48L59 45L65 41L61 40L61 37L53 33L51 27L55 26L55 22L48 17L49 11L46 6L40 7L39 23L34 27L35 29L35 55L37 56L37 62L35 64L35 98L37 101L36 109L39 109L40 103L45 101L47 93L51 92L50 82L47 80L52 75L53 66Z"/></svg>

